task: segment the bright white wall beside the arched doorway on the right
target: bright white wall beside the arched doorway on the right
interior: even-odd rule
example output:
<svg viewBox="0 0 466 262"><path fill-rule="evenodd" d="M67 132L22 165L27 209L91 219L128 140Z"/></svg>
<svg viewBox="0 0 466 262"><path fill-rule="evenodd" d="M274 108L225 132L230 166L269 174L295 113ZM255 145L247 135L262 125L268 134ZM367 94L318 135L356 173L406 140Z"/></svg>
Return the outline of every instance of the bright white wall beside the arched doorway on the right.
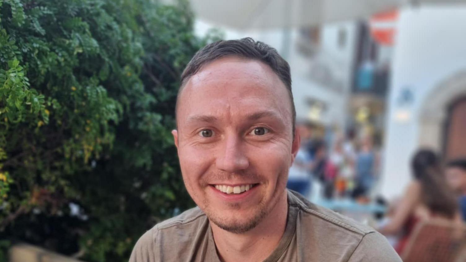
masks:
<svg viewBox="0 0 466 262"><path fill-rule="evenodd" d="M410 160L421 144L439 148L445 105L455 94L466 92L454 83L463 81L454 79L466 69L465 24L464 5L412 7L400 12L387 101L381 187L388 198L402 194L411 180ZM450 83L449 87L445 83ZM411 91L411 102L402 99L403 90ZM429 108L440 97L442 102ZM430 115L439 116L426 120L426 108Z"/></svg>

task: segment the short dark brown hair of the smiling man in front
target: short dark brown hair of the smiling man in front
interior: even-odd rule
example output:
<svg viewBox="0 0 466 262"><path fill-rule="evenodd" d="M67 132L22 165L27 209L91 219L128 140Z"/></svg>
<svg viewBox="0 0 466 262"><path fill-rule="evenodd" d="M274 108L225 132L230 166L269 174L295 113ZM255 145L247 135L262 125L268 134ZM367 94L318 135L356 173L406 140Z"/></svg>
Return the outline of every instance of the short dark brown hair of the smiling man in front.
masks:
<svg viewBox="0 0 466 262"><path fill-rule="evenodd" d="M239 40L220 40L206 45L200 49L191 59L186 66L183 74L181 74L181 86L178 90L178 97L181 93L186 82L189 78L199 72L203 66L213 62L219 58L226 56L237 56L240 58L247 58L258 60L267 64L288 90L289 98L291 101L293 136L295 135L295 122L296 122L296 109L293 101L293 93L291 92L291 73L288 62L285 61L277 52L275 48L267 44L254 41L254 39L247 37ZM177 106L178 107L178 98Z"/></svg>

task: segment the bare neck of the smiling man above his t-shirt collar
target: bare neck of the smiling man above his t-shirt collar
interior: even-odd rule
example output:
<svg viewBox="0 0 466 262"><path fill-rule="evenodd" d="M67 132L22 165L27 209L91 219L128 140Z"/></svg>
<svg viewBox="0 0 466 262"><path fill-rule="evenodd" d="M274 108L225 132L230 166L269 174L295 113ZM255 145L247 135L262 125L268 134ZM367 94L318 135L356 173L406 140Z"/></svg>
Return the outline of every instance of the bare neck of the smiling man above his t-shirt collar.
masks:
<svg viewBox="0 0 466 262"><path fill-rule="evenodd" d="M287 216L287 191L284 190L267 217L246 233L231 233L211 223L213 238L220 258L224 262L262 261L266 259L278 246L285 232Z"/></svg>

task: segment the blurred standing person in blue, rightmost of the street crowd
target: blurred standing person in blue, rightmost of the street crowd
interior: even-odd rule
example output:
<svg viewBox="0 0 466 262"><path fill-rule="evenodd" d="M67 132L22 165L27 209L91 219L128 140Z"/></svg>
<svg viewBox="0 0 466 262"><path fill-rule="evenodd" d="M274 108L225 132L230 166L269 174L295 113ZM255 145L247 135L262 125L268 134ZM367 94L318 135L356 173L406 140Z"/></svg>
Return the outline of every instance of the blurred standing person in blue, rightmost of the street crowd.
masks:
<svg viewBox="0 0 466 262"><path fill-rule="evenodd" d="M368 197L376 182L378 155L372 143L372 138L365 135L361 141L361 148L356 154L356 187L359 196Z"/></svg>

